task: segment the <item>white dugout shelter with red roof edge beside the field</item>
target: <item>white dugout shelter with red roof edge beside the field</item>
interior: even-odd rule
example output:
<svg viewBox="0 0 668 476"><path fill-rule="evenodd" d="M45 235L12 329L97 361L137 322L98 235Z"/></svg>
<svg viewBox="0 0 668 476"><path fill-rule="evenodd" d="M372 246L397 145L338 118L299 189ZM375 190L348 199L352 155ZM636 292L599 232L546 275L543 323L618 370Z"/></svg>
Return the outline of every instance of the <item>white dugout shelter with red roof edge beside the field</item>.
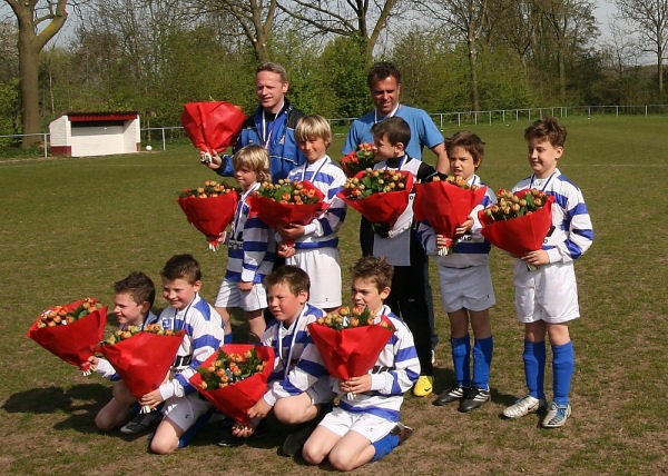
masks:
<svg viewBox="0 0 668 476"><path fill-rule="evenodd" d="M53 156L108 156L141 150L136 111L69 112L49 123L49 133Z"/></svg>

